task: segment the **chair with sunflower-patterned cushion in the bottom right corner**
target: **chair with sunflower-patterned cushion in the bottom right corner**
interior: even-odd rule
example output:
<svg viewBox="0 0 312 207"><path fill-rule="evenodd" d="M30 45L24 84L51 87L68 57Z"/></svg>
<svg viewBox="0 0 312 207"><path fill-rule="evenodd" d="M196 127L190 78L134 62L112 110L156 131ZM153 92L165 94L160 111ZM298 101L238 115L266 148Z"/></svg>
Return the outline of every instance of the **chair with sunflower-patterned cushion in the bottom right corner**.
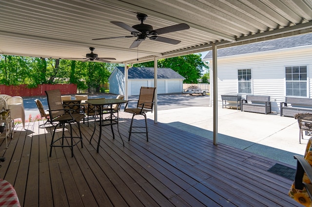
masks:
<svg viewBox="0 0 312 207"><path fill-rule="evenodd" d="M311 207L312 204L312 138L309 139L304 156L294 155L297 169L294 182L288 192L296 202Z"/></svg>

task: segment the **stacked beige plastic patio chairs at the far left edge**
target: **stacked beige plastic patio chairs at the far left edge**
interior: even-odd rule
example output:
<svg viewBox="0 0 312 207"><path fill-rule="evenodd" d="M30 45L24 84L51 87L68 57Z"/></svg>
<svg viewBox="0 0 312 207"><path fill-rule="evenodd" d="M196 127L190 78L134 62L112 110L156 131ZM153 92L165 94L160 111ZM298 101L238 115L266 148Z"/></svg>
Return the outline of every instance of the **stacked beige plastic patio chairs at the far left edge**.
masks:
<svg viewBox="0 0 312 207"><path fill-rule="evenodd" d="M23 98L20 96L10 96L0 94L0 97L6 101L6 109L10 109L11 119L21 119L23 128L25 128L25 110Z"/></svg>

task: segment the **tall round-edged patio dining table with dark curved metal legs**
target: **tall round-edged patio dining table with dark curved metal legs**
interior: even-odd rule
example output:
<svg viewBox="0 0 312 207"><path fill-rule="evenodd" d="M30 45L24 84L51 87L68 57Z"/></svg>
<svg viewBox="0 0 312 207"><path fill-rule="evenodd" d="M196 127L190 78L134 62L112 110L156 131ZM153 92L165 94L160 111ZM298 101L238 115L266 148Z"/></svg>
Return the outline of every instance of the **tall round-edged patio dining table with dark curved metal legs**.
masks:
<svg viewBox="0 0 312 207"><path fill-rule="evenodd" d="M113 134L113 139L115 139L115 133L114 133L114 129L113 129L113 125L114 124L117 124L117 131L118 131L118 134L119 134L119 137L121 138L121 141L122 141L122 144L124 146L124 142L123 142L123 139L120 135L120 132L119 132L119 126L118 126L118 122L119 122L119 115L118 115L118 111L117 111L117 117L116 118L113 118L113 114L114 114L114 111L112 110L112 106L113 104L125 104L127 103L128 101L126 100L120 100L120 99L93 99L93 100L88 100L86 101L87 104L90 104L90 105L94 105L95 106L95 111L97 112L97 107L99 107L99 135L98 135L98 146L97 146L97 152L98 152L98 149L99 149L99 143L100 143L100 140L101 140L101 136L102 136L102 126L108 126L110 125L111 126L111 129L112 129L112 134ZM109 106L110 105L110 109L109 109L109 112L110 112L110 116L109 116L109 119L105 119L103 120L103 106ZM107 123L108 122L108 123ZM93 133L92 133L92 136L90 138L90 144L91 144L91 140L94 136L94 133L96 131L96 121L94 122L94 130L93 130Z"/></svg>

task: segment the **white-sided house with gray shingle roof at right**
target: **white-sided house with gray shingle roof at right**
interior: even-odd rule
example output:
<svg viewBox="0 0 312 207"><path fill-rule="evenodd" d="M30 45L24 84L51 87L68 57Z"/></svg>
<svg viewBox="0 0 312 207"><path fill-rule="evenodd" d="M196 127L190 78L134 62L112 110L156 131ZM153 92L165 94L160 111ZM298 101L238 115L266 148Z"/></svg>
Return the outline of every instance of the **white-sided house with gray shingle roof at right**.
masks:
<svg viewBox="0 0 312 207"><path fill-rule="evenodd" d="M219 102L222 94L269 95L279 113L286 96L312 97L311 33L218 49L217 58ZM212 52L203 60L212 61Z"/></svg>

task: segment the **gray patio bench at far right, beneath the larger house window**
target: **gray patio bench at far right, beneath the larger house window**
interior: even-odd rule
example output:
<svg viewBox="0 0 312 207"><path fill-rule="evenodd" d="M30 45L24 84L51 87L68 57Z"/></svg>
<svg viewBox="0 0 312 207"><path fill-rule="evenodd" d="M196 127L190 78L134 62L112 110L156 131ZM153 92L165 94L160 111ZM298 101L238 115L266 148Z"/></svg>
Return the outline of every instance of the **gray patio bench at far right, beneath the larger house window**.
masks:
<svg viewBox="0 0 312 207"><path fill-rule="evenodd" d="M280 103L280 116L294 117L297 113L312 113L312 99L285 97L285 102Z"/></svg>

